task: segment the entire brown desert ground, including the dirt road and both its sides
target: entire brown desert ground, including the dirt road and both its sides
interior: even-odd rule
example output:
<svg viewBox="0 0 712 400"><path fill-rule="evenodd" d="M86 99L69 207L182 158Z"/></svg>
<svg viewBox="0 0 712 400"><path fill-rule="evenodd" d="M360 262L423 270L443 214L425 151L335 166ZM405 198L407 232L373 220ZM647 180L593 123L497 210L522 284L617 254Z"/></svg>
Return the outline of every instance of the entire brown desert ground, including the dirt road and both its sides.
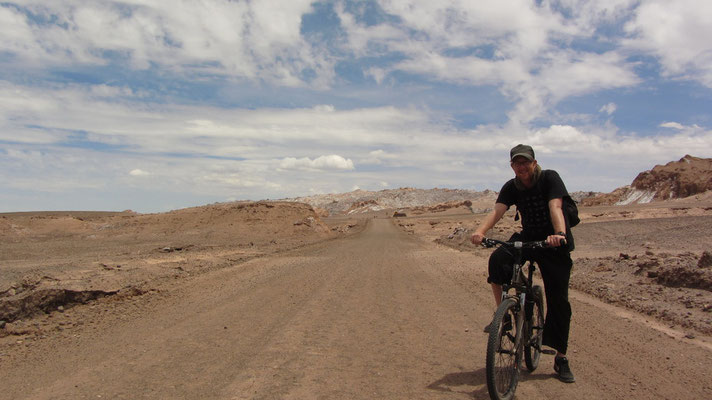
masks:
<svg viewBox="0 0 712 400"><path fill-rule="evenodd" d="M1 215L0 398L486 399L473 209ZM712 200L580 213L576 383L517 398L712 398Z"/></svg>

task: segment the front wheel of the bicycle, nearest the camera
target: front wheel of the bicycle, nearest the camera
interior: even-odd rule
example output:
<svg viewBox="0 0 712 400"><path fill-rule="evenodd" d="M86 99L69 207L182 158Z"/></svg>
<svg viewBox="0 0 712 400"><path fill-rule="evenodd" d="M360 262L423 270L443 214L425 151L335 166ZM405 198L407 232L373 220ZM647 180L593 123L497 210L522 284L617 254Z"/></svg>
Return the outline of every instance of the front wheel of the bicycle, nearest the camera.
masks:
<svg viewBox="0 0 712 400"><path fill-rule="evenodd" d="M516 343L521 332L517 332L517 308L514 299L505 299L490 324L485 371L487 390L492 400L512 399L519 383L521 351L516 348ZM512 328L508 331L502 329L505 315L510 315L512 321Z"/></svg>

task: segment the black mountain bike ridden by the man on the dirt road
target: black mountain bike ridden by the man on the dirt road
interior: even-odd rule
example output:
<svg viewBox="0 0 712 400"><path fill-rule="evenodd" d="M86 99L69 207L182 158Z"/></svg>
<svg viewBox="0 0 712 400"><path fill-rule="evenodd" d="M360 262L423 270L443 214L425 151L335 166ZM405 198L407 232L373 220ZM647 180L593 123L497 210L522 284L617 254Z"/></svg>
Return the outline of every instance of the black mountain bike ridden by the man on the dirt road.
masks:
<svg viewBox="0 0 712 400"><path fill-rule="evenodd" d="M482 240L482 245L502 246L514 257L512 281L502 285L502 302L489 325L485 367L490 398L508 400L514 397L519 383L522 355L527 370L532 372L539 366L542 352L555 354L541 348L544 332L544 291L541 286L532 283L536 263L531 260L522 262L524 249L548 246L545 241L503 242L488 238ZM509 293L510 289L514 289L513 294Z"/></svg>

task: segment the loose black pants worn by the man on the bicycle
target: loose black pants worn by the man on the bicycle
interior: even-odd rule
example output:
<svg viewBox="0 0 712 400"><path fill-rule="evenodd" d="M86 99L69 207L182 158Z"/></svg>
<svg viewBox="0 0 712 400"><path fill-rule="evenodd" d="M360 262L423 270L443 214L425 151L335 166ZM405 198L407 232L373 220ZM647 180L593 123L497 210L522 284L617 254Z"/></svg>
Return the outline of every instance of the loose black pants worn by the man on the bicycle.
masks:
<svg viewBox="0 0 712 400"><path fill-rule="evenodd" d="M510 240L522 240L515 234ZM533 260L539 265L544 291L546 292L546 322L544 323L544 345L566 354L571 325L571 305L569 304L569 278L571 277L571 255L564 248L525 249L523 260ZM512 280L514 259L505 248L499 247L489 259L487 282L503 285Z"/></svg>

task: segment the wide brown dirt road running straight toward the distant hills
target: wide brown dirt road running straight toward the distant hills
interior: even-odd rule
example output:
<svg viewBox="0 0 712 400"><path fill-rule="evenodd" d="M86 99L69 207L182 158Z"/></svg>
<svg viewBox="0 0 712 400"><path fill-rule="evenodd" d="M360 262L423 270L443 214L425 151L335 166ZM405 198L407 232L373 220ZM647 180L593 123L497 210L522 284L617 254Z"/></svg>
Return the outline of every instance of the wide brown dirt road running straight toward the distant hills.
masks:
<svg viewBox="0 0 712 400"><path fill-rule="evenodd" d="M86 322L0 356L0 398L485 399L485 264L374 219L348 239L68 310ZM518 398L712 398L704 342L582 294L572 307L577 382L543 356Z"/></svg>

